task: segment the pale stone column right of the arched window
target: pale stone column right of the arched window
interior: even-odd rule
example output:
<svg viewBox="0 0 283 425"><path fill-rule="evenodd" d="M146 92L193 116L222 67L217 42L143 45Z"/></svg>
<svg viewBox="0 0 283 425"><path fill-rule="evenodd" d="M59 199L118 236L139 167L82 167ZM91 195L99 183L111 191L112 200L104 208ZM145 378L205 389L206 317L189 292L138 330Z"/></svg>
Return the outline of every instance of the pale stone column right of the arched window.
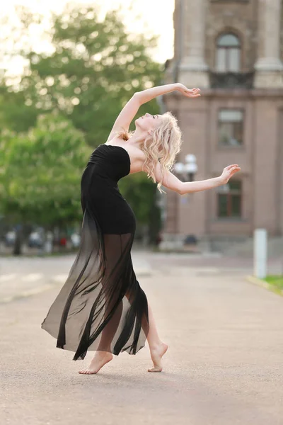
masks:
<svg viewBox="0 0 283 425"><path fill-rule="evenodd" d="M260 0L258 61L255 87L283 87L283 64L279 57L281 0Z"/></svg>

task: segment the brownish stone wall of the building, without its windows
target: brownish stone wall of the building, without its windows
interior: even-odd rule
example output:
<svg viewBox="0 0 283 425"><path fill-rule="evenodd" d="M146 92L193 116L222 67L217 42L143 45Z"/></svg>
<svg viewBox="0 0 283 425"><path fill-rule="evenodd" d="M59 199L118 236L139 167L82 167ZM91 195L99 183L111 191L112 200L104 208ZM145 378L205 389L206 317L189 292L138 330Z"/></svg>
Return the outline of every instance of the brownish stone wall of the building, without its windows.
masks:
<svg viewBox="0 0 283 425"><path fill-rule="evenodd" d="M282 41L278 57L283 60L283 7L280 27L275 25L275 33L271 34L272 21L267 19L272 19L273 12L269 17L265 13L270 5L265 3L268 0L197 0L197 4L195 0L185 1L185 7L181 0L175 2L175 55L168 67L166 83L180 81L188 86L187 81L190 81L191 87L200 86L202 96L196 100L184 98L179 93L165 96L167 109L175 112L183 131L182 152L176 161L184 162L186 154L195 154L197 180L219 176L225 166L239 164L241 172L236 178L242 182L242 215L241 218L217 217L217 189L185 196L167 190L168 221L164 232L172 237L174 234L177 237L195 234L200 238L249 237L256 227L265 227L272 236L283 235L283 70L273 71L271 67L260 74L255 67L276 38ZM278 8L279 0L272 1L277 2ZM207 71L203 66L197 71L200 58L194 69L194 57L190 57L192 52L195 56L202 55L202 46L194 32L186 30L195 8L198 8L197 16L201 10L204 14L203 60ZM209 73L216 72L216 39L228 32L241 40L241 74L253 73L253 84L212 89L206 81L210 81ZM178 69L184 57L187 68L185 64ZM177 72L173 72L176 68ZM195 85L199 81L203 86ZM244 111L242 146L219 146L220 108Z"/></svg>

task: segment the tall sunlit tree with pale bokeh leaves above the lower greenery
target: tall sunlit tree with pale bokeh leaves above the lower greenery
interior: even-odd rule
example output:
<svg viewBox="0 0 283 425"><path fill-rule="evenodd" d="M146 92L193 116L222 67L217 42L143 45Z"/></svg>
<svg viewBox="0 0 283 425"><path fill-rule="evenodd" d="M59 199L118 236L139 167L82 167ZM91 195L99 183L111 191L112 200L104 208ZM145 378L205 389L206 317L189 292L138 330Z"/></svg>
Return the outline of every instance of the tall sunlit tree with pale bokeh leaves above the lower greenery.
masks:
<svg viewBox="0 0 283 425"><path fill-rule="evenodd" d="M5 101L9 98L13 106L24 106L24 113L11 105L6 111L11 128L29 128L35 125L37 114L58 109L95 147L107 140L117 115L135 91L159 84L163 65L148 53L156 46L156 36L128 34L117 11L109 11L104 21L98 19L98 12L93 7L67 6L61 15L52 17L52 54L26 47L21 51L29 67L13 95L3 93L2 88ZM27 30L33 16L23 8L18 13ZM139 113L146 111L158 113L155 100L141 106Z"/></svg>

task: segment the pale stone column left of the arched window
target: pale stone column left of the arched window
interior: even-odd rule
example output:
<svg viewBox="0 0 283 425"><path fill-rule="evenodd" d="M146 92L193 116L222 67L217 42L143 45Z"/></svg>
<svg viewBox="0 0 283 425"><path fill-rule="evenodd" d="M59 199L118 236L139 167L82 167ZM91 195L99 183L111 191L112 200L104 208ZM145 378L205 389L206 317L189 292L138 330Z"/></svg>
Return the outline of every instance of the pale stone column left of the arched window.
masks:
<svg viewBox="0 0 283 425"><path fill-rule="evenodd" d="M182 6L179 82L189 87L206 88L209 87L208 67L204 59L207 0L183 0Z"/></svg>

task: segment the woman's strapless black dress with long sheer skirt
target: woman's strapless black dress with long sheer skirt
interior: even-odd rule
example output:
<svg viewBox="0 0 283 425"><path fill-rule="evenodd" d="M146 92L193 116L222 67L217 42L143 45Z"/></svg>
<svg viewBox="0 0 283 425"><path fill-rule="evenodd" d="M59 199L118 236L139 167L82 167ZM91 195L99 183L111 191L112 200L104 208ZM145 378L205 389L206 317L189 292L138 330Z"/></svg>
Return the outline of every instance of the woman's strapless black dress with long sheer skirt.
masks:
<svg viewBox="0 0 283 425"><path fill-rule="evenodd" d="M136 220L117 186L130 166L126 149L99 145L81 177L79 252L41 324L73 360L88 349L118 355L145 346L148 304L131 258Z"/></svg>

